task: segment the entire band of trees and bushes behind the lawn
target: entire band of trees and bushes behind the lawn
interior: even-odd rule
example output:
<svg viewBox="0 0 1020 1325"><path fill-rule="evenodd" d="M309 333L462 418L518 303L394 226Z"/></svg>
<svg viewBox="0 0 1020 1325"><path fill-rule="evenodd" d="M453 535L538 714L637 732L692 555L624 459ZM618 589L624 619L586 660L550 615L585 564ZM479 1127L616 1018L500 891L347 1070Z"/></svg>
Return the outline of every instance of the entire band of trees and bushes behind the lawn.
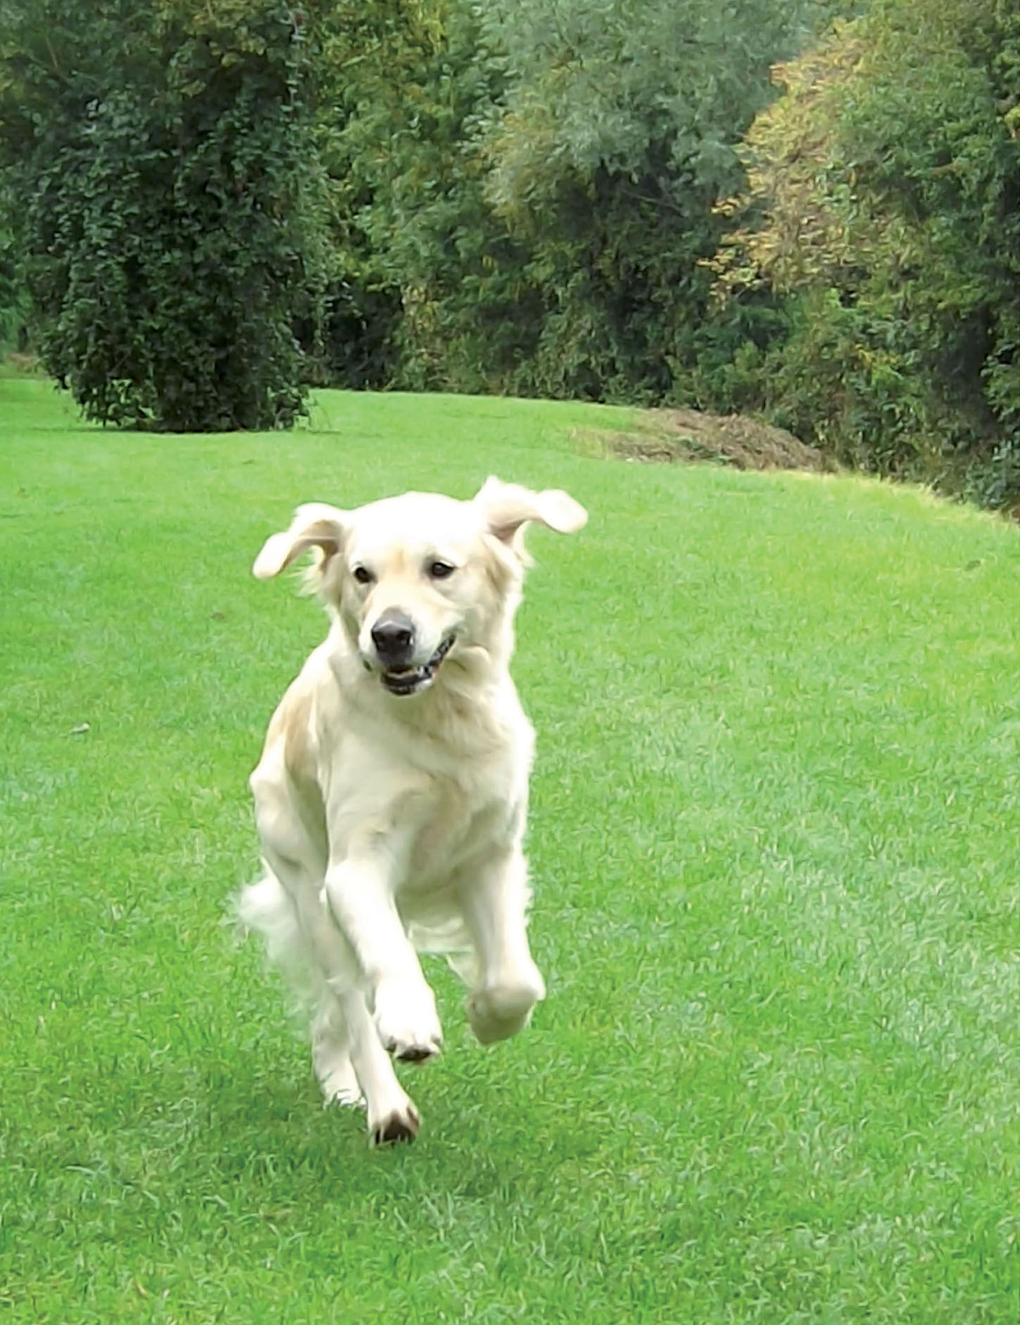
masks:
<svg viewBox="0 0 1020 1325"><path fill-rule="evenodd" d="M113 421L766 409L1020 502L1019 180L1011 0L0 0L0 335Z"/></svg>

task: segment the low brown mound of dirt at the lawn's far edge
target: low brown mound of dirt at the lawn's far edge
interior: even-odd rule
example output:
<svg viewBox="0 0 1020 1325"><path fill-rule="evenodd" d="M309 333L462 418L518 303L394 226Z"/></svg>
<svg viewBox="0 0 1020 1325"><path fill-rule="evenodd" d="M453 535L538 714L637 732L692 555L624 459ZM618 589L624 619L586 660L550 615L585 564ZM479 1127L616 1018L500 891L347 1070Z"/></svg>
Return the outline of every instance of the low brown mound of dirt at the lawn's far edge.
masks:
<svg viewBox="0 0 1020 1325"><path fill-rule="evenodd" d="M734 469L833 470L835 464L792 432L746 415L713 415L695 409L648 409L635 432L579 432L603 453L666 464L697 461Z"/></svg>

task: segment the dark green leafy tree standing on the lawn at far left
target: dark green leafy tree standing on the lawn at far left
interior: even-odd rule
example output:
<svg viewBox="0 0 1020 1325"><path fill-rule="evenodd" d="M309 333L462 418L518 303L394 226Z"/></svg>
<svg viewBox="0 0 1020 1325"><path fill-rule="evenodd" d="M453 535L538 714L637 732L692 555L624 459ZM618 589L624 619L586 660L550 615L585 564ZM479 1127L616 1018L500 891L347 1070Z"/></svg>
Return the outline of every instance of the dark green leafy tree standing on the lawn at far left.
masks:
<svg viewBox="0 0 1020 1325"><path fill-rule="evenodd" d="M291 423L322 266L299 19L236 0L4 19L0 142L49 371L102 421Z"/></svg>

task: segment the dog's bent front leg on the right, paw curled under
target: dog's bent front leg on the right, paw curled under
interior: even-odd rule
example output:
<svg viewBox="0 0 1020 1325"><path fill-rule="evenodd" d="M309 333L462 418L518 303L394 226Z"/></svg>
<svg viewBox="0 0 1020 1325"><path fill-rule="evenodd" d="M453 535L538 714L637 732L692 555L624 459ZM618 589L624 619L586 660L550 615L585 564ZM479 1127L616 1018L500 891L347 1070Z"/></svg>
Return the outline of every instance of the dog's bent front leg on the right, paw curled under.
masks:
<svg viewBox="0 0 1020 1325"><path fill-rule="evenodd" d="M468 1019L476 1037L493 1044L523 1030L546 996L527 945L527 865L521 851L486 861L465 881L460 898L477 955Z"/></svg>

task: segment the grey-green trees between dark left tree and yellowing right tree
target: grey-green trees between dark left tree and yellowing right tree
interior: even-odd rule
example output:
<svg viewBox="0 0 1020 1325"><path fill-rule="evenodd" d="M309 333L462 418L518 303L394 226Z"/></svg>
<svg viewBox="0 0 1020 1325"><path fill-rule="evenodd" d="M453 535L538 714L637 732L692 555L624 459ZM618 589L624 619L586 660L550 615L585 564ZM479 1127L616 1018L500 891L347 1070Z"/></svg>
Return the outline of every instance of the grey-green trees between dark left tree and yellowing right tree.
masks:
<svg viewBox="0 0 1020 1325"><path fill-rule="evenodd" d="M689 367L721 338L718 322L698 330L710 285L698 258L722 231L711 203L740 179L739 131L813 11L778 0L743 0L726 20L707 0L360 11L356 38L348 24L339 40L346 57L334 46L344 85L323 122L359 254L352 288L389 293L391 380L686 394Z"/></svg>

